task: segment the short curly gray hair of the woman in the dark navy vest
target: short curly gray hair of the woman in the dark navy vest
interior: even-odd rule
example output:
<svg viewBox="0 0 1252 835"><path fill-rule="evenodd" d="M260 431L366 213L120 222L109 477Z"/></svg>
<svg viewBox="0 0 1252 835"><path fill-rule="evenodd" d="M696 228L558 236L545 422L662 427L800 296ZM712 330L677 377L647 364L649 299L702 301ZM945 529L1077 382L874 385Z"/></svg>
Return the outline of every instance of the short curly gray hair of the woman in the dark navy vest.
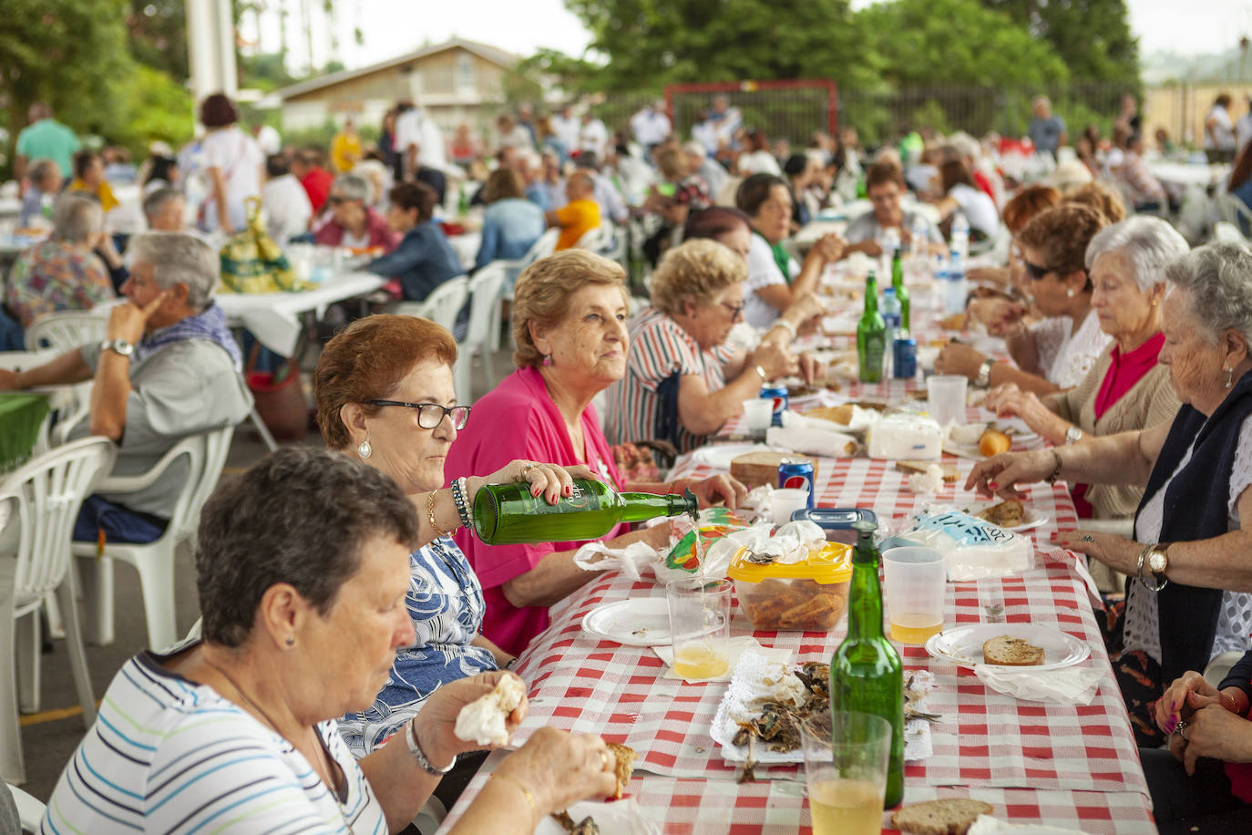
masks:
<svg viewBox="0 0 1252 835"><path fill-rule="evenodd" d="M1166 280L1187 292L1192 315L1209 343L1227 330L1252 341L1252 248L1211 243L1166 268Z"/></svg>

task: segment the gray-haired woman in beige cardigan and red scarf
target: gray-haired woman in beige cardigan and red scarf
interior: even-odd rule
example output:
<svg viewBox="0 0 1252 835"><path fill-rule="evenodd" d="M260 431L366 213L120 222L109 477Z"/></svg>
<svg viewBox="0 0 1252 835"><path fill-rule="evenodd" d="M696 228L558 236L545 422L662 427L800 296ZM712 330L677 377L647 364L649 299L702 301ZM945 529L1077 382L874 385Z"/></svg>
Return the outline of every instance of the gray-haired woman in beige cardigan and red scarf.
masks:
<svg viewBox="0 0 1252 835"><path fill-rule="evenodd" d="M1008 383L992 389L987 408L1020 417L1054 444L1172 421L1178 398L1169 371L1157 363L1164 343L1161 300L1166 267L1188 249L1161 218L1137 215L1097 232L1085 254L1090 305L1112 344L1078 386L1039 397ZM1124 484L1072 484L1072 491L1079 518L1131 516L1143 496L1142 488Z"/></svg>

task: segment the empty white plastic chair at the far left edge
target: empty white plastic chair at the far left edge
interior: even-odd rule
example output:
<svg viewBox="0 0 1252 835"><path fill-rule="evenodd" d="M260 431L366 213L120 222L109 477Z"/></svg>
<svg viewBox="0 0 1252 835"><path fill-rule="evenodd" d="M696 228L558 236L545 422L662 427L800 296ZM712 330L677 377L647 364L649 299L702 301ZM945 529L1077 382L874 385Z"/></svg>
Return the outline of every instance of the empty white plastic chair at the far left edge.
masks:
<svg viewBox="0 0 1252 835"><path fill-rule="evenodd" d="M83 725L95 721L95 699L79 630L70 536L83 499L116 458L108 438L84 438L45 452L0 481L0 503L11 518L0 536L0 776L26 779L18 710L39 710L39 610L56 592L65 620L74 687ZM13 675L16 648L18 676ZM21 685L19 692L19 684Z"/></svg>

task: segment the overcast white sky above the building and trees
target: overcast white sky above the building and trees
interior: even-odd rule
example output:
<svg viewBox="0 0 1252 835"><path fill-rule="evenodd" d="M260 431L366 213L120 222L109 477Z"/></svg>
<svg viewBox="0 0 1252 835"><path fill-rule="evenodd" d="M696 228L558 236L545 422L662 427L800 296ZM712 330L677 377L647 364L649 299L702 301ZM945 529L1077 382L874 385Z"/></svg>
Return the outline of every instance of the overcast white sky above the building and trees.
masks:
<svg viewBox="0 0 1252 835"><path fill-rule="evenodd" d="M295 13L302 0L272 0L270 8L285 3ZM304 0L314 9L319 3ZM765 1L765 0L762 0ZM853 0L854 8L870 0ZM1221 51L1252 35L1252 0L1127 0L1131 25L1139 36L1144 54L1174 50L1184 55ZM363 66L417 49L424 40L438 43L453 35L482 41L526 55L538 46L565 53L582 51L588 34L578 19L566 10L562 0L338 0L337 29L341 53L348 66ZM1186 11L1182 11L1182 9ZM357 9L359 9L359 18ZM398 11L402 9L403 11ZM352 28L359 25L366 44L352 44ZM293 14L292 31L299 31ZM254 36L252 20L244 20L244 36ZM313 51L318 63L329 55L329 38L321 19L314 20ZM263 48L277 50L277 18L270 15L262 28ZM293 60L305 60L304 41L290 46Z"/></svg>

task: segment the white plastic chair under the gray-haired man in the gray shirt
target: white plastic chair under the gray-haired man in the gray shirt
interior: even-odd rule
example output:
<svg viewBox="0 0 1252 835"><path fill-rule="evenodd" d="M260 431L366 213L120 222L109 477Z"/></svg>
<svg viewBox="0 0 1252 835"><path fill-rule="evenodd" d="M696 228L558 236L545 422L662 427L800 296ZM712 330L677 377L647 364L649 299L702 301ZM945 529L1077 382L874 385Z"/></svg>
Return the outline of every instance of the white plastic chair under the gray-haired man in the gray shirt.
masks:
<svg viewBox="0 0 1252 835"><path fill-rule="evenodd" d="M153 484L169 467L183 458L188 463L187 481L179 491L165 532L155 542L133 545L109 542L104 556L96 556L94 542L75 542L74 556L83 578L83 600L89 635L94 643L113 642L113 561L120 560L139 572L139 588L148 621L148 647L163 650L178 641L174 621L174 551L179 543L194 543L200 510L222 476L234 427L223 427L183 438L162 456L151 469L138 476L104 478L96 487L104 493L130 493ZM193 546L194 547L194 546Z"/></svg>

